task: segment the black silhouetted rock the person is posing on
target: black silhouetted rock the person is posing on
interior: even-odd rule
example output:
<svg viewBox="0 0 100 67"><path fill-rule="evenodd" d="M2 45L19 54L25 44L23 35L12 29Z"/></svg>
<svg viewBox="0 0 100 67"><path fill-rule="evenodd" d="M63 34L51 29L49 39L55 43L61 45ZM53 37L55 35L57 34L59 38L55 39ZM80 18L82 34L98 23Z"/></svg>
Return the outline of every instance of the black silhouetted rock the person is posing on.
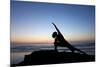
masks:
<svg viewBox="0 0 100 67"><path fill-rule="evenodd" d="M72 52L57 52L54 50L35 51L30 55L25 55L24 61L13 66L42 65L57 63L91 62L95 61L94 55L86 55Z"/></svg>

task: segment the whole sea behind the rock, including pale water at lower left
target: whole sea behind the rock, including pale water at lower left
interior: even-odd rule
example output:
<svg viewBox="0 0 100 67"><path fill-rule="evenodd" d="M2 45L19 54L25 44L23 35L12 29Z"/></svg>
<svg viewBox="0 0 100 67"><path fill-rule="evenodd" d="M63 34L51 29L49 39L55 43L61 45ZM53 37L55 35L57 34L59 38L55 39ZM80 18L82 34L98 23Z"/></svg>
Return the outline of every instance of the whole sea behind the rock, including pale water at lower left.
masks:
<svg viewBox="0 0 100 67"><path fill-rule="evenodd" d="M74 47L86 52L89 55L95 55L95 43L72 44ZM17 64L24 60L24 56L39 50L54 50L53 44L11 44L11 64ZM66 47L58 47L58 51L70 52Z"/></svg>

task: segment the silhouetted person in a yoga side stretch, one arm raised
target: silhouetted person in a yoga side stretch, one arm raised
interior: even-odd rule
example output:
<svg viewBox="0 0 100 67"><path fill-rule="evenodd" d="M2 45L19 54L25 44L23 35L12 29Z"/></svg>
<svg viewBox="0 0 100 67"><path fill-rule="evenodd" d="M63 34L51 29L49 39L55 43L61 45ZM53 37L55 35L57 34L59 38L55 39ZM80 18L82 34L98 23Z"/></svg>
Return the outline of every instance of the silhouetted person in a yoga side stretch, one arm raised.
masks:
<svg viewBox="0 0 100 67"><path fill-rule="evenodd" d="M67 42L63 35L61 34L61 32L59 31L59 29L57 28L57 26L52 23L54 25L54 27L56 28L57 32L53 32L52 37L55 38L54 41L54 46L55 46L55 50L57 51L57 46L61 46L61 47L67 47L69 48L73 53L74 51L78 51L80 53L86 54L85 52L75 48L74 46L72 46L69 42Z"/></svg>

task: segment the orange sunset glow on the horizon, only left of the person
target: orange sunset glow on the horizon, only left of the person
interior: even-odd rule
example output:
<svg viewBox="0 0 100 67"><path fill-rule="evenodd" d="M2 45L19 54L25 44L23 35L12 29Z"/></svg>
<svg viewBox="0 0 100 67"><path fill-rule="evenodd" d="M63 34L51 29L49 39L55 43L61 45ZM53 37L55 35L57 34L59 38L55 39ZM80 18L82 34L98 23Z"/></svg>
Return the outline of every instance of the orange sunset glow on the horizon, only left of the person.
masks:
<svg viewBox="0 0 100 67"><path fill-rule="evenodd" d="M20 37L11 37L11 42L12 43L53 43L53 38L20 36Z"/></svg>

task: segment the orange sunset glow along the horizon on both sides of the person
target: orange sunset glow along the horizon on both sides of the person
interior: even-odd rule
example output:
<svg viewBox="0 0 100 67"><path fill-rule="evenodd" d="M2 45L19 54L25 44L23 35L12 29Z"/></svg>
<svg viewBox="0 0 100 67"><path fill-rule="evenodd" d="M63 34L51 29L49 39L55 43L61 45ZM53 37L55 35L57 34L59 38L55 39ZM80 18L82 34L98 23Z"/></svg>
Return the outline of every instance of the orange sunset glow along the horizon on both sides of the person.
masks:
<svg viewBox="0 0 100 67"><path fill-rule="evenodd" d="M95 36L88 35L76 35L76 36L65 36L68 42L84 42L84 41L94 41ZM13 36L11 37L11 43L48 43L54 42L52 37L44 36Z"/></svg>

